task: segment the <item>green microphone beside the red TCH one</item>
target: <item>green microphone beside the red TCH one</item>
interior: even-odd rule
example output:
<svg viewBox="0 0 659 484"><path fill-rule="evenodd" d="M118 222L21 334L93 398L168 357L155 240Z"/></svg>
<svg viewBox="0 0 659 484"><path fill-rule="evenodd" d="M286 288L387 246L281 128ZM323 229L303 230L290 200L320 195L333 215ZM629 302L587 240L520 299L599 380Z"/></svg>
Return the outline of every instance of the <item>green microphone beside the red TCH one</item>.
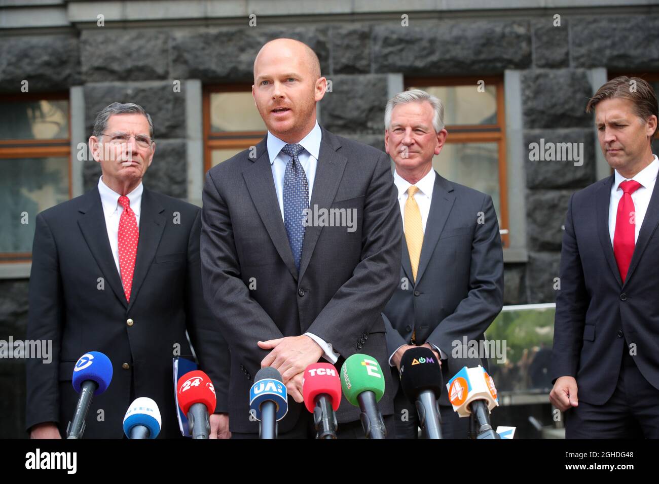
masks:
<svg viewBox="0 0 659 484"><path fill-rule="evenodd" d="M341 367L341 388L346 400L362 411L359 419L368 439L384 439L387 433L378 408L384 394L382 369L375 358L355 353Z"/></svg>

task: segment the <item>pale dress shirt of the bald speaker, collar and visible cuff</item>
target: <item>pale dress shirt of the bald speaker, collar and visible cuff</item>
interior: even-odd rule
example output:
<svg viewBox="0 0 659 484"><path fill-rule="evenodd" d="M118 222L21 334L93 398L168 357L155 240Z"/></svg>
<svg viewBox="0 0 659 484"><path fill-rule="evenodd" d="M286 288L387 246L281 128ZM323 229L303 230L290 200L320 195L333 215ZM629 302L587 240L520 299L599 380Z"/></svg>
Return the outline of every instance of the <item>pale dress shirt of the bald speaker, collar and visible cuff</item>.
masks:
<svg viewBox="0 0 659 484"><path fill-rule="evenodd" d="M311 200L311 192L314 188L314 180L316 179L316 167L318 167L318 153L320 153L321 139L322 132L320 126L318 126L318 121L316 121L312 130L298 143L304 148L297 157L300 160L306 180L309 183L309 200ZM281 219L284 220L284 174L286 172L286 165L291 157L281 151L281 148L287 145L287 142L280 140L270 131L268 131L266 144L268 146L268 157L270 158L270 166L272 167L272 178L275 182L275 192L277 192ZM313 333L304 333L304 335L309 336L318 343L318 346L325 352L324 357L326 360L329 360L331 363L336 363L339 360L340 355L333 350L330 343Z"/></svg>

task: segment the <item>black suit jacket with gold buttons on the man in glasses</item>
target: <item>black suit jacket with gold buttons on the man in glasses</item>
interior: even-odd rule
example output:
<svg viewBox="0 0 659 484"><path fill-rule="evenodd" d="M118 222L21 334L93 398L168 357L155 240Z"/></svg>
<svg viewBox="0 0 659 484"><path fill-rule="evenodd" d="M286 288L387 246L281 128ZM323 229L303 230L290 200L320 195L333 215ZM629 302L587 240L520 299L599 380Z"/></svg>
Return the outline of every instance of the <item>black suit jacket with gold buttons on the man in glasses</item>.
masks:
<svg viewBox="0 0 659 484"><path fill-rule="evenodd" d="M160 437L180 437L172 358L191 355L186 330L227 411L228 350L201 289L200 209L144 188L130 304L113 259L98 188L36 217L30 273L28 339L53 340L53 362L27 362L26 427L55 421L65 435L78 394L71 385L82 354L112 362L108 389L94 397L84 438L121 437L134 397L148 396L162 417ZM134 323L129 326L127 320ZM202 351L203 350L203 351ZM127 363L127 369L123 367ZM104 421L98 421L99 410Z"/></svg>

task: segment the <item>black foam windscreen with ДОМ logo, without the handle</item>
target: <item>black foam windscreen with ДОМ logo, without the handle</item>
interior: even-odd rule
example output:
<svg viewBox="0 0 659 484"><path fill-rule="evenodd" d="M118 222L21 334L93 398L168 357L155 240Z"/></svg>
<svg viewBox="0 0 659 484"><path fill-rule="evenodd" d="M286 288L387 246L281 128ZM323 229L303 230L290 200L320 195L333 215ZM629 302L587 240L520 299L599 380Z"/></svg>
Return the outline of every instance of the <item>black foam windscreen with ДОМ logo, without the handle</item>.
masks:
<svg viewBox="0 0 659 484"><path fill-rule="evenodd" d="M435 398L442 394L442 368L429 348L410 348L401 358L401 388L410 402L415 402L419 392L432 390Z"/></svg>

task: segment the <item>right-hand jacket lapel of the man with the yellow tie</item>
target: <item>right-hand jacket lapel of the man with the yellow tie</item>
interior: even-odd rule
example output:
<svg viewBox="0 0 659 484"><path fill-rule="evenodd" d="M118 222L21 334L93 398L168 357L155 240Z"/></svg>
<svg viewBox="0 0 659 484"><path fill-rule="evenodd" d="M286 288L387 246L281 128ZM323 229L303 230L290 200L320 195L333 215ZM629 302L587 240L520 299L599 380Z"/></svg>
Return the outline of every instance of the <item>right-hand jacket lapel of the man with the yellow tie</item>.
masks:
<svg viewBox="0 0 659 484"><path fill-rule="evenodd" d="M432 200L430 202L430 212L428 213L428 221L426 222L426 232L423 235L423 244L421 245L421 255L418 261L418 270L416 271L416 282L421 280L423 273L428 267L430 256L435 250L444 225L449 218L449 213L453 208L455 202L455 195L453 186L446 180L446 178L435 173L435 184L432 189ZM407 248L407 245L406 245ZM407 252L407 250L405 251ZM409 255L408 255L409 258ZM411 270L410 270L411 272Z"/></svg>

